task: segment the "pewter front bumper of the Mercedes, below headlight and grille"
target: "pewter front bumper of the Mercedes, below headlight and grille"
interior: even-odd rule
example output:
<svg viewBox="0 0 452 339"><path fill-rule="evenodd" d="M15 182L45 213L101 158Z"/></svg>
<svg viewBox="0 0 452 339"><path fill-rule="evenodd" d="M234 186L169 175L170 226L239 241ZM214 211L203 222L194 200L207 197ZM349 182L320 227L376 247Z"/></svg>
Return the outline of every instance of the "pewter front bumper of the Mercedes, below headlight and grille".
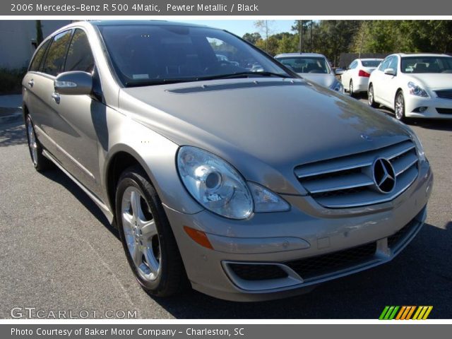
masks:
<svg viewBox="0 0 452 339"><path fill-rule="evenodd" d="M309 197L284 196L290 211L241 221L206 210L193 215L165 210L194 289L221 299L258 301L309 292L318 283L391 261L422 227L432 184L424 162L407 191L378 206L322 210ZM213 250L196 244L184 226L206 232ZM251 265L246 267L257 275L244 279L237 265ZM256 278L265 265L285 276Z"/></svg>

